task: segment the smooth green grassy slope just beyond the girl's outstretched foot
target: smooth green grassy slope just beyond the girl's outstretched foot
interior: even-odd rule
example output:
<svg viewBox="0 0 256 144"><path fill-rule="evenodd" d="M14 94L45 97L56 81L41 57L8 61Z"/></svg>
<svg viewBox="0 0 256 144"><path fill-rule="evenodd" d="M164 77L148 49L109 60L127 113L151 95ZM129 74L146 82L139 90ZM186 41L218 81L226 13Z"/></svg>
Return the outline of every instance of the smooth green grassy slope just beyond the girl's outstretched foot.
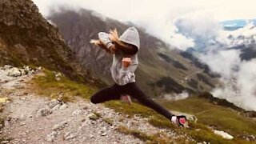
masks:
<svg viewBox="0 0 256 144"><path fill-rule="evenodd" d="M199 123L214 126L230 134L256 135L256 122L253 119L246 118L235 110L207 102L204 98L192 97L175 102L160 102L170 110L194 114Z"/></svg>

